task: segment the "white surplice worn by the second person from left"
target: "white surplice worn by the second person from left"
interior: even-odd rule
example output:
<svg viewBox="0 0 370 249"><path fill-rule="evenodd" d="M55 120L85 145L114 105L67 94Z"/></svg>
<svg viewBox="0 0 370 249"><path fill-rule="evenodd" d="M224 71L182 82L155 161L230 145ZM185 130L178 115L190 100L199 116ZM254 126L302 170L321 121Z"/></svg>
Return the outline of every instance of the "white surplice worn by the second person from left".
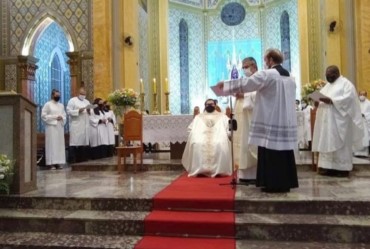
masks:
<svg viewBox="0 0 370 249"><path fill-rule="evenodd" d="M89 145L89 114L86 110L79 112L80 108L90 105L87 99L73 97L68 101L67 114L69 115L69 145Z"/></svg>

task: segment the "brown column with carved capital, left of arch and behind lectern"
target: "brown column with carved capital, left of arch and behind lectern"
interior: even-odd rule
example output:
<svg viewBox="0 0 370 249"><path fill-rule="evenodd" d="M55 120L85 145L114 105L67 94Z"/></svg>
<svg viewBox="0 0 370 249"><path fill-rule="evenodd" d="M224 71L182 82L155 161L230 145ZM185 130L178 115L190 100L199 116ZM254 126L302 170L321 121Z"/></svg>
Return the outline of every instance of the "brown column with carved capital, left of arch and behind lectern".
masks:
<svg viewBox="0 0 370 249"><path fill-rule="evenodd" d="M34 102L35 74L39 60L32 56L18 56L17 92Z"/></svg>

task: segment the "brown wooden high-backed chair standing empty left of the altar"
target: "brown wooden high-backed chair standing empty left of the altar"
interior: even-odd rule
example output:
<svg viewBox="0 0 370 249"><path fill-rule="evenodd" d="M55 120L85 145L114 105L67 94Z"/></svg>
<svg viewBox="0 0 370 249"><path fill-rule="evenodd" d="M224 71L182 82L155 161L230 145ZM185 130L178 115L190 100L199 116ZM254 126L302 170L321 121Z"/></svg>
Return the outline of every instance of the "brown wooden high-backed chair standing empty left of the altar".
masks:
<svg viewBox="0 0 370 249"><path fill-rule="evenodd" d="M116 147L117 151L117 168L118 172L122 172L121 158L123 157L123 169L126 165L126 156L133 154L134 157L134 172L136 173L136 157L140 153L141 168L143 167L143 115L136 110L129 111L124 114L123 124L123 140L124 145ZM133 145L133 142L139 142L139 145Z"/></svg>

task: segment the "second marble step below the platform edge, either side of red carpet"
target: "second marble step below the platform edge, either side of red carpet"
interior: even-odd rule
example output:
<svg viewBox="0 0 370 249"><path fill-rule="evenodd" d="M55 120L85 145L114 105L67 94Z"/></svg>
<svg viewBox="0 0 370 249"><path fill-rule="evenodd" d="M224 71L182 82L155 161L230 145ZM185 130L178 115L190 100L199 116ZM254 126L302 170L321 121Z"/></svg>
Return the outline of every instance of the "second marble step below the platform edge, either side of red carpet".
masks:
<svg viewBox="0 0 370 249"><path fill-rule="evenodd" d="M363 202L362 204L369 206L370 203ZM285 205L288 206L289 201ZM348 203L348 205L351 204ZM351 206L348 209L351 209ZM370 243L369 214L334 215L289 212L237 213L236 238L262 241ZM19 232L41 233L46 231L55 236L135 237L144 234L144 218L147 214L146 211L79 208L8 209L2 207L0 209L0 231L1 234L3 232L15 234L9 236L16 236ZM168 234L168 236L175 236L175 234Z"/></svg>

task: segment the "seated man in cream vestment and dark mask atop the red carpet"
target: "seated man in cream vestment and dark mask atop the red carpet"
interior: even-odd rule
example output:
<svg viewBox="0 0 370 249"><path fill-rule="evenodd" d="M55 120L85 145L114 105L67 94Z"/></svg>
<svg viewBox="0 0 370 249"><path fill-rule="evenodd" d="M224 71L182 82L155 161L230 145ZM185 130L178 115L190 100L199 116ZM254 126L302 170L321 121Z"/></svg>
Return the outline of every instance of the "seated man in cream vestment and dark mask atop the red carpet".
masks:
<svg viewBox="0 0 370 249"><path fill-rule="evenodd" d="M182 156L188 176L231 175L229 118L215 110L213 99L205 102L205 112L194 117Z"/></svg>

